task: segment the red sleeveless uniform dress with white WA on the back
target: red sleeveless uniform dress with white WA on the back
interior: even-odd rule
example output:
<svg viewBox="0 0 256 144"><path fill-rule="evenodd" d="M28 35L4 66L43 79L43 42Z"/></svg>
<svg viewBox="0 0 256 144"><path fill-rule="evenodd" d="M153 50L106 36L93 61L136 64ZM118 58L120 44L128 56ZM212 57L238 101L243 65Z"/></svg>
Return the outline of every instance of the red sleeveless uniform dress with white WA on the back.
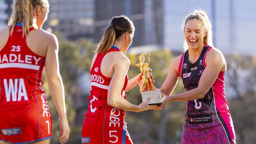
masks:
<svg viewBox="0 0 256 144"><path fill-rule="evenodd" d="M0 140L23 144L52 138L41 80L44 65L45 57L32 52L26 36L22 38L22 26L15 26L0 51Z"/></svg>

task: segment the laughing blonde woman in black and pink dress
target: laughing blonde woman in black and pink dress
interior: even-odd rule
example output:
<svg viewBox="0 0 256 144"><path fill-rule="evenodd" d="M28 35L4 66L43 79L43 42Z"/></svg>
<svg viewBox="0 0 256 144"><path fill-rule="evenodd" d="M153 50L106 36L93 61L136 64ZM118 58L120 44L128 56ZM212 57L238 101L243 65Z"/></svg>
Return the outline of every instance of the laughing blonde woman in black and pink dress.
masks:
<svg viewBox="0 0 256 144"><path fill-rule="evenodd" d="M182 144L235 144L236 137L225 98L226 61L213 47L211 22L202 10L183 22L185 52L173 59L161 92L163 109L169 102L187 101ZM170 96L180 77L186 92Z"/></svg>

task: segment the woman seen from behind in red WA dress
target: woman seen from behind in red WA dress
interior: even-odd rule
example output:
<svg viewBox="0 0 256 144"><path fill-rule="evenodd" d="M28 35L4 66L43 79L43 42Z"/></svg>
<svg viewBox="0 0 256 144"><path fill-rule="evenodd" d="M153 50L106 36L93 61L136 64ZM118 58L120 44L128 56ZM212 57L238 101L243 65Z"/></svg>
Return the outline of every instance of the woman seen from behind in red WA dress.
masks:
<svg viewBox="0 0 256 144"><path fill-rule="evenodd" d="M42 81L59 114L59 137L69 138L63 83L59 74L58 41L41 29L48 0L14 0L6 28L0 30L0 144L49 144L52 115Z"/></svg>

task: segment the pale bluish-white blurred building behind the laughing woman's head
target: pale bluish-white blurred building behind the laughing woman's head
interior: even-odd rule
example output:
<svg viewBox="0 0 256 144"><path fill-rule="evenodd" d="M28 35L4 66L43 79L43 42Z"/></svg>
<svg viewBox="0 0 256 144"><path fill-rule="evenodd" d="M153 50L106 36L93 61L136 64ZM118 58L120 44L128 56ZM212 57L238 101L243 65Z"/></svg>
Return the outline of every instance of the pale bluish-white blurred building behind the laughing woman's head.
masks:
<svg viewBox="0 0 256 144"><path fill-rule="evenodd" d="M164 0L164 47L182 51L183 18L193 9L208 13L213 24L213 44L223 54L256 54L255 0Z"/></svg>

